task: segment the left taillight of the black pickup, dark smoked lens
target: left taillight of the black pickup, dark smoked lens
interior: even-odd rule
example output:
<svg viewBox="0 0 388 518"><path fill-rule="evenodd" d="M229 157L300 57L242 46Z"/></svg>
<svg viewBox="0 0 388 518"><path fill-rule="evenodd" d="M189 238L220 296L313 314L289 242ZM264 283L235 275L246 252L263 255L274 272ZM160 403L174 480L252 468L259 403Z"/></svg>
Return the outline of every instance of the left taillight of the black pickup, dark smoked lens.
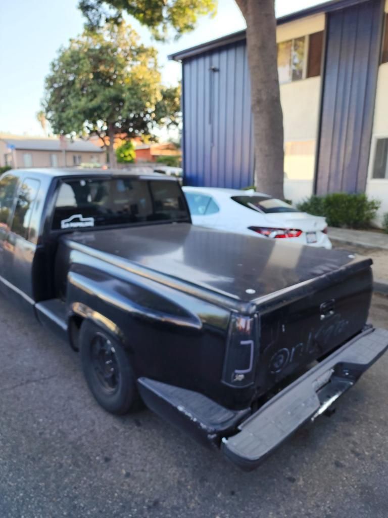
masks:
<svg viewBox="0 0 388 518"><path fill-rule="evenodd" d="M244 388L255 381L258 349L257 317L232 315L223 363L222 382Z"/></svg>

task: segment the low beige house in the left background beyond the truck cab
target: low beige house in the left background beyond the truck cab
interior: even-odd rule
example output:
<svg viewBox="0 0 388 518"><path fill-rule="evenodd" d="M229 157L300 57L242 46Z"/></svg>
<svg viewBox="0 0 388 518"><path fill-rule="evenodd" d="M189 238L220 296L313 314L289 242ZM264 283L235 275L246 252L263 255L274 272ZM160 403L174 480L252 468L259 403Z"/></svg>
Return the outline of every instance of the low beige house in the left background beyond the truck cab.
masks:
<svg viewBox="0 0 388 518"><path fill-rule="evenodd" d="M82 163L103 165L106 153L88 140L0 134L0 166L72 167Z"/></svg>

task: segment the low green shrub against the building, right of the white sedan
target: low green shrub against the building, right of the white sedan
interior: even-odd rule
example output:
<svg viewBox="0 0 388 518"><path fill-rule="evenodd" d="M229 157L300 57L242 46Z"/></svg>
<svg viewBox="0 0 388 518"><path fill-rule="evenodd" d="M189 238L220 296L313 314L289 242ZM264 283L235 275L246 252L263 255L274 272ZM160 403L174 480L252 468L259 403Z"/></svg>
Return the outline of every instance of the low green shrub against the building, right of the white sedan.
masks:
<svg viewBox="0 0 388 518"><path fill-rule="evenodd" d="M336 227L367 228L375 218L381 202L366 194L333 193L311 196L297 205L299 210L324 216L327 224Z"/></svg>

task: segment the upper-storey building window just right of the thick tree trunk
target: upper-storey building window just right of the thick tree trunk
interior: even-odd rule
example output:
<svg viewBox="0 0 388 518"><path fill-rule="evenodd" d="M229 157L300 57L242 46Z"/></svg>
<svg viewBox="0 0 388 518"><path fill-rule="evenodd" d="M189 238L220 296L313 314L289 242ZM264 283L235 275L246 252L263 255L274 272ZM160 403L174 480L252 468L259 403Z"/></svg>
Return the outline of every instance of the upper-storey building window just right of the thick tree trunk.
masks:
<svg viewBox="0 0 388 518"><path fill-rule="evenodd" d="M277 46L279 83L321 74L323 31L282 41Z"/></svg>

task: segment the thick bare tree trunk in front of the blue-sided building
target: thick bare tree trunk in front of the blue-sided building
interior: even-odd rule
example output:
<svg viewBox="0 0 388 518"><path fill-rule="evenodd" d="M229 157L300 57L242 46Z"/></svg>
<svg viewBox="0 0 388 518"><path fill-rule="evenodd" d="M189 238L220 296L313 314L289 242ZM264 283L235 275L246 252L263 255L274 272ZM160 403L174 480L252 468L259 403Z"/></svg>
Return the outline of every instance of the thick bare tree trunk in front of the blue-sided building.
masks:
<svg viewBox="0 0 388 518"><path fill-rule="evenodd" d="M258 191L283 198L283 115L277 72L274 0L236 0L247 24L251 83L255 185Z"/></svg>

